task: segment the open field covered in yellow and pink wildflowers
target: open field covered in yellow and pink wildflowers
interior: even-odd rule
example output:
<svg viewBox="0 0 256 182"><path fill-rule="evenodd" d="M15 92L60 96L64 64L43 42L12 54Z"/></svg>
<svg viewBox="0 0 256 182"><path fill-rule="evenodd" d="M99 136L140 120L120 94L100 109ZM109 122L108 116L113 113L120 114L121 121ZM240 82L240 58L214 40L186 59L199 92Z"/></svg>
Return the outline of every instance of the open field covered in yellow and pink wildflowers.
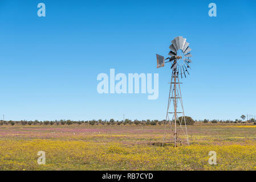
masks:
<svg viewBox="0 0 256 182"><path fill-rule="evenodd" d="M190 146L157 146L164 126L1 126L0 170L255 170L256 126L188 127ZM167 138L172 137L168 135ZM39 165L38 151L46 152ZM208 164L216 151L217 165Z"/></svg>

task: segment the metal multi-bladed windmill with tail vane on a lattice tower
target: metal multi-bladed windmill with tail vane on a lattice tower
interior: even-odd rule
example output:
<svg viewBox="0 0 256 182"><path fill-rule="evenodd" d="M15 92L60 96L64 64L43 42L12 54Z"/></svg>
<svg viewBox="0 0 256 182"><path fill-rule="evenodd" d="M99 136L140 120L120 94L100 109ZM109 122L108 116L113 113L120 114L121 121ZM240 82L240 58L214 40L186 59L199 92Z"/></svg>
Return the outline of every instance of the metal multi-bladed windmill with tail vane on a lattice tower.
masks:
<svg viewBox="0 0 256 182"><path fill-rule="evenodd" d="M177 143L182 144L182 140L178 137L180 131L184 134L185 137L185 142L183 142L189 144L188 132L186 130L186 118L181 97L180 84L182 83L180 82L180 77L184 78L189 75L188 68L190 68L189 64L192 63L189 58L192 57L190 53L192 49L189 47L189 43L186 42L186 39L182 36L177 36L176 38L174 38L169 48L169 57L167 57L166 59L164 58L164 56L156 55L157 68L164 67L165 63L170 63L170 69L172 72L172 77L169 82L170 91L165 119L164 138L162 140L162 144L164 144L165 141L167 127L169 127L169 130L174 133L174 141L171 142L174 143L174 147L177 147ZM171 105L173 105L172 110ZM181 116L178 117L178 115ZM185 127L183 127L182 125L184 125Z"/></svg>

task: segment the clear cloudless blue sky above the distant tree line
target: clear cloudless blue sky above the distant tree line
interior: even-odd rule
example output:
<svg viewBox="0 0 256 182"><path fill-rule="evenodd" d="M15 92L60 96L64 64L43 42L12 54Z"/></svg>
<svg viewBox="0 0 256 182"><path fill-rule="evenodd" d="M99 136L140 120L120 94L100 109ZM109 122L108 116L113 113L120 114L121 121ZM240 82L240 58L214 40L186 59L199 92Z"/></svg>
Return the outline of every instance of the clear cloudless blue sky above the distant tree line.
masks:
<svg viewBox="0 0 256 182"><path fill-rule="evenodd" d="M46 17L37 5L46 5ZM208 5L217 5L217 17ZM256 115L255 1L0 1L0 115L6 120L165 119L169 68L156 68L184 36L183 79L193 119ZM159 98L99 94L99 73L159 73ZM0 117L2 118L2 117Z"/></svg>

